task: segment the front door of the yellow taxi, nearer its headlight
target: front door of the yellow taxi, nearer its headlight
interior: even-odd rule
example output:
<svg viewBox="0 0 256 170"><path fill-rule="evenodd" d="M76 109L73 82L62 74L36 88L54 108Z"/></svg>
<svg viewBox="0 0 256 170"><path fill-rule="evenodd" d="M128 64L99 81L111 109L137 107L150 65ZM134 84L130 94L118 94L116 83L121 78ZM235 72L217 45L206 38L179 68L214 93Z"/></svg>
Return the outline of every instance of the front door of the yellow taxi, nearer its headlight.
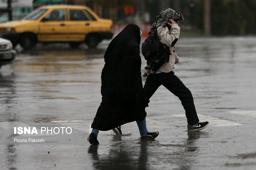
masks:
<svg viewBox="0 0 256 170"><path fill-rule="evenodd" d="M67 41L66 9L51 11L40 21L38 41Z"/></svg>

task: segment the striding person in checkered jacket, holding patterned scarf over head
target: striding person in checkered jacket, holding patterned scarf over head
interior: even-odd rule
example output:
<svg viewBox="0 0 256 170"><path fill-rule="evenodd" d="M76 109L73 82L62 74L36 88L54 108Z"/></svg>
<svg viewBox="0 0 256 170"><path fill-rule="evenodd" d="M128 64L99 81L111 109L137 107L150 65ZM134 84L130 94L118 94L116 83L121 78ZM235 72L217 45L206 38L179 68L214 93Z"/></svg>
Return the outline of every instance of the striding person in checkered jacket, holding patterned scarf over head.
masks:
<svg viewBox="0 0 256 170"><path fill-rule="evenodd" d="M163 85L182 102L187 117L188 131L202 130L208 126L209 122L199 122L190 90L174 75L174 64L179 62L174 46L180 34L180 27L177 22L184 20L183 15L171 8L167 8L162 10L155 19L158 19L158 21L153 23L149 34L154 33L155 30L157 31L159 41L163 47L165 49L169 48L169 60L166 60L155 71L149 65L145 67L146 72L143 76L147 76L147 79L143 89L148 99L150 99L158 87Z"/></svg>

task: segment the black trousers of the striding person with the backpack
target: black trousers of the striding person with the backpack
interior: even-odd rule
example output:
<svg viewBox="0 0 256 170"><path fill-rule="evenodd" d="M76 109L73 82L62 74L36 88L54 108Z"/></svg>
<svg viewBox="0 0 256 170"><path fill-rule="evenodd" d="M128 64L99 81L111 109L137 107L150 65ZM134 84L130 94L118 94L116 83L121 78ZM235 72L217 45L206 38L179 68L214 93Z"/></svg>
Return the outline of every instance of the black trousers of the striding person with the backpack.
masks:
<svg viewBox="0 0 256 170"><path fill-rule="evenodd" d="M144 91L148 99L151 98L157 88L161 85L163 85L180 99L181 104L186 112L188 124L193 125L199 122L193 96L190 90L182 83L182 81L179 80L176 75L173 74L173 72L158 73L155 75L155 81L154 74L147 76L147 80L144 85Z"/></svg>

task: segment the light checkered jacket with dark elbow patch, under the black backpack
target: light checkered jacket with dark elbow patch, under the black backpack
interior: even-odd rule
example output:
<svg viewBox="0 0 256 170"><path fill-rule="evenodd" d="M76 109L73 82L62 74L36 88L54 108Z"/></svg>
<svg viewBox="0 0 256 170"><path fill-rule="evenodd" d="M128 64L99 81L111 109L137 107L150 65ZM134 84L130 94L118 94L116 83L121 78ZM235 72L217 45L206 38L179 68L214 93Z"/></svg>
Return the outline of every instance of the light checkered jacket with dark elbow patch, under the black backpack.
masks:
<svg viewBox="0 0 256 170"><path fill-rule="evenodd" d="M167 46L170 48L170 55L169 55L169 62L166 62L156 71L156 73L159 72L165 72L168 73L170 71L174 72L174 64L179 61L179 57L175 53L175 46L174 44L177 42L180 34L180 27L177 24L173 24L171 27L171 33L169 32L167 27L159 26L157 28L157 34L159 37L159 41L163 44L164 48ZM173 44L172 44L173 43ZM145 73L144 77L149 75L147 72L147 69L149 69L150 66L145 67ZM151 70L151 73L154 73Z"/></svg>

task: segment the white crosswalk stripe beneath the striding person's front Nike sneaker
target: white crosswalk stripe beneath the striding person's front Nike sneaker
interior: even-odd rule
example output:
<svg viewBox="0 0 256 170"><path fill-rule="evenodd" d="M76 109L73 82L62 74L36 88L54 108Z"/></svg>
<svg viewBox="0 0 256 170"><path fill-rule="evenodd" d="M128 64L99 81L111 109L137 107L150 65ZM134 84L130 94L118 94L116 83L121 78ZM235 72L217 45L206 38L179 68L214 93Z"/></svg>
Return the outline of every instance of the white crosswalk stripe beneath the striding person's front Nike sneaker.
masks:
<svg viewBox="0 0 256 170"><path fill-rule="evenodd" d="M184 119L187 119L185 114L172 114L172 116L182 117ZM231 122L231 121L227 121L227 120L222 120L222 119L219 119L219 118L216 118L216 117L206 116L206 115L202 115L202 114L197 114L197 116L198 116L200 122L208 121L211 126L215 126L215 127L243 125L243 124L240 124L240 123Z"/></svg>

